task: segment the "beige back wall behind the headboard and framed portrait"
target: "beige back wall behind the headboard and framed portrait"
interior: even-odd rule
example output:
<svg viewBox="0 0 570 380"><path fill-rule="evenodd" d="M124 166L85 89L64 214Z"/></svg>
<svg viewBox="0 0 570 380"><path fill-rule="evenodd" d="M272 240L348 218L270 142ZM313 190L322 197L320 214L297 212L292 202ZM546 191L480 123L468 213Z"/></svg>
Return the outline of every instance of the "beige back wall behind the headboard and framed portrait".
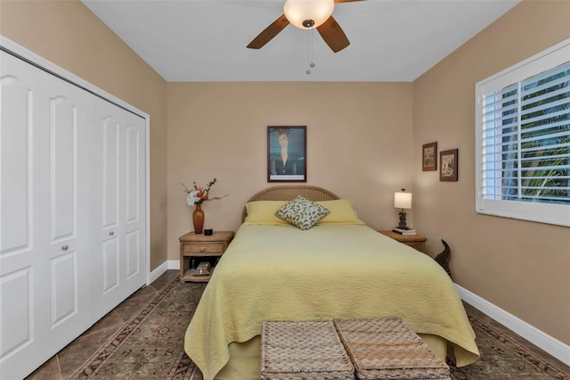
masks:
<svg viewBox="0 0 570 380"><path fill-rule="evenodd" d="M169 83L167 103L169 260L192 229L181 182L217 178L210 194L230 194L203 205L217 230L282 185L267 183L267 126L307 127L307 185L354 199L372 227L397 223L394 192L412 183L411 83Z"/></svg>

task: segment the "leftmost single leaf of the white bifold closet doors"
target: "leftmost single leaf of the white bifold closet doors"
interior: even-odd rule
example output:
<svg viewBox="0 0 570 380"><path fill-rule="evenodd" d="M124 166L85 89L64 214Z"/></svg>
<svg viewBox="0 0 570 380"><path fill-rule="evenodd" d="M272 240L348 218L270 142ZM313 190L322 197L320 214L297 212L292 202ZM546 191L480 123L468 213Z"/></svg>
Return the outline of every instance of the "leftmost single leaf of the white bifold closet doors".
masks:
<svg viewBox="0 0 570 380"><path fill-rule="evenodd" d="M0 378L27 375L28 362L43 362L42 313L49 261L45 254L47 193L42 173L48 158L45 96L40 73L0 52ZM24 368L23 370L21 368Z"/></svg>

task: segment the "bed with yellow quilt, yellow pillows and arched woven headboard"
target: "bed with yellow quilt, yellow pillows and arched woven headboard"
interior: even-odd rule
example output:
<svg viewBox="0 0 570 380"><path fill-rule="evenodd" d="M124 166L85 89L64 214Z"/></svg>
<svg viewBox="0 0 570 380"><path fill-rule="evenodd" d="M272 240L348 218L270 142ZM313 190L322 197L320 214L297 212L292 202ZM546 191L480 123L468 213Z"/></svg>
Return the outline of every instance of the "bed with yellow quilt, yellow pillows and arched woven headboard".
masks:
<svg viewBox="0 0 570 380"><path fill-rule="evenodd" d="M329 214L300 229L274 215L302 195ZM319 209L322 210L322 209ZM264 320L402 318L458 366L478 359L452 280L436 261L364 225L352 202L317 186L252 196L184 338L208 379L259 378Z"/></svg>

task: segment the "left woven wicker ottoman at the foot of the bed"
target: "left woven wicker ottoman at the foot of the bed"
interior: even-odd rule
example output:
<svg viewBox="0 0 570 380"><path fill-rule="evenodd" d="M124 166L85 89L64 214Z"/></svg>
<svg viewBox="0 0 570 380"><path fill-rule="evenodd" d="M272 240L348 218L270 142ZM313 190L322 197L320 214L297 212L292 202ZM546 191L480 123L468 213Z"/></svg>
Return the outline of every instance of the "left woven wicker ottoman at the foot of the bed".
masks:
<svg viewBox="0 0 570 380"><path fill-rule="evenodd" d="M264 322L261 378L354 379L354 366L332 321Z"/></svg>

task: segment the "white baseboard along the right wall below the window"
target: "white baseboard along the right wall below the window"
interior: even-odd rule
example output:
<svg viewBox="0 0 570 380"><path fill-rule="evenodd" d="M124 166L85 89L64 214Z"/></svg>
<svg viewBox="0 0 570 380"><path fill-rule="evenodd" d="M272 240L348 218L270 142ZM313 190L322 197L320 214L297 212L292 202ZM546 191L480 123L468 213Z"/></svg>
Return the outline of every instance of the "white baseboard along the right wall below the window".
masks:
<svg viewBox="0 0 570 380"><path fill-rule="evenodd" d="M484 312L501 325L509 328L517 335L522 336L527 341L533 343L542 350L547 351L556 359L570 366L570 346L566 343L558 341L558 339L542 332L538 328L529 325L524 320L515 317L509 312L502 310L493 303L484 300L475 293L469 292L467 289L455 284L457 292L460 293L461 300L467 302L477 310Z"/></svg>

